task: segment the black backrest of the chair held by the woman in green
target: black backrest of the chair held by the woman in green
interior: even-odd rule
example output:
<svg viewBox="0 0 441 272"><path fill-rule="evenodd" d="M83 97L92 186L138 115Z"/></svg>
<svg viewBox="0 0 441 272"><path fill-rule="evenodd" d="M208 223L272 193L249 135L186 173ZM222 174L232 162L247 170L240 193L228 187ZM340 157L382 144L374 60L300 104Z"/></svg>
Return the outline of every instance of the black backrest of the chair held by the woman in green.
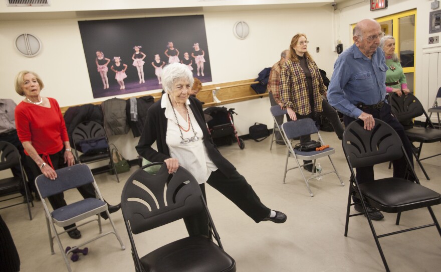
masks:
<svg viewBox="0 0 441 272"><path fill-rule="evenodd" d="M398 96L392 94L389 97L390 107L399 121L412 119L424 114L421 102L411 93Z"/></svg>

